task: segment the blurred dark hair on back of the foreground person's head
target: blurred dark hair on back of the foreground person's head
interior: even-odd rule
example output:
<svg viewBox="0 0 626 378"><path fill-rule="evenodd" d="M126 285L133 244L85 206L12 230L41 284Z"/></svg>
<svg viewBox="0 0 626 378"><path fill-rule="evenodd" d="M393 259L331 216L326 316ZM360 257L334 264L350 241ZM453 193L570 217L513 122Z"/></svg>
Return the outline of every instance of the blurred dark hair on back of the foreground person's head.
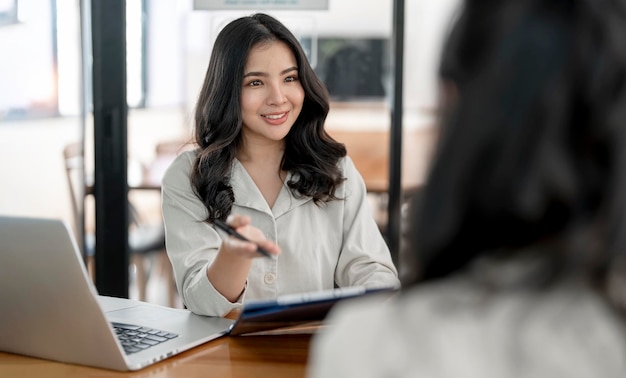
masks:
<svg viewBox="0 0 626 378"><path fill-rule="evenodd" d="M547 244L605 283L626 247L625 3L468 0L441 76L459 94L415 212L421 278Z"/></svg>

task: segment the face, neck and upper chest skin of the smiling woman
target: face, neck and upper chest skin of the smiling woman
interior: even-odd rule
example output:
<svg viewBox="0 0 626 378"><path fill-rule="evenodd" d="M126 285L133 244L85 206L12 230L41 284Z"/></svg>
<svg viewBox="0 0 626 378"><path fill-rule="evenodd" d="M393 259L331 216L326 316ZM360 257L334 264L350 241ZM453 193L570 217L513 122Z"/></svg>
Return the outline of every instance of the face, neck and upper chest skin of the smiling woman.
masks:
<svg viewBox="0 0 626 378"><path fill-rule="evenodd" d="M278 167L285 137L302 110L304 89L298 81L296 59L283 42L272 41L253 47L244 72L243 146L237 159L271 208L286 178L286 172ZM273 174L277 171L278 174Z"/></svg>

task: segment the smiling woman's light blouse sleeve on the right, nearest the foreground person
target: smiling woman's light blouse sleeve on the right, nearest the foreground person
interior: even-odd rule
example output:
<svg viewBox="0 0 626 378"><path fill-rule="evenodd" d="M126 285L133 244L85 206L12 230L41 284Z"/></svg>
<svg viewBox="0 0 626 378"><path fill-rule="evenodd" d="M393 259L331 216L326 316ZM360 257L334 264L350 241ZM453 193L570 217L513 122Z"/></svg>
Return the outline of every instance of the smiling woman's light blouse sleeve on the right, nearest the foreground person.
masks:
<svg viewBox="0 0 626 378"><path fill-rule="evenodd" d="M367 200L365 182L349 157L343 161L343 246L335 281L341 287L399 287L389 247Z"/></svg>

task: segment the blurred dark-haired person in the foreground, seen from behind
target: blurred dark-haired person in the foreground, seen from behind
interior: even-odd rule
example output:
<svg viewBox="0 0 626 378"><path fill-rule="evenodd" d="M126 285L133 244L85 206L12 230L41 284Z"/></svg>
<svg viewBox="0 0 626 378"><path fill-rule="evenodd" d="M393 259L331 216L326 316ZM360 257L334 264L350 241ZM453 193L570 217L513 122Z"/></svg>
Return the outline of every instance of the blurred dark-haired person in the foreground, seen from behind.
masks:
<svg viewBox="0 0 626 378"><path fill-rule="evenodd" d="M420 275L335 307L310 377L626 374L625 46L623 0L464 2Z"/></svg>

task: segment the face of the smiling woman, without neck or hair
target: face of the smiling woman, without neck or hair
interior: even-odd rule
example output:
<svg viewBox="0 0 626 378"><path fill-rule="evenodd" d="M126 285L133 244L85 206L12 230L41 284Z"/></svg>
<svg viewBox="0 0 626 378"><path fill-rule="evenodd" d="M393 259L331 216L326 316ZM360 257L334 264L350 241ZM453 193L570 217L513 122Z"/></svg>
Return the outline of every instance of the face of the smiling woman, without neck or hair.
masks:
<svg viewBox="0 0 626 378"><path fill-rule="evenodd" d="M241 91L243 137L247 145L281 142L304 102L296 58L280 41L261 43L248 54Z"/></svg>

